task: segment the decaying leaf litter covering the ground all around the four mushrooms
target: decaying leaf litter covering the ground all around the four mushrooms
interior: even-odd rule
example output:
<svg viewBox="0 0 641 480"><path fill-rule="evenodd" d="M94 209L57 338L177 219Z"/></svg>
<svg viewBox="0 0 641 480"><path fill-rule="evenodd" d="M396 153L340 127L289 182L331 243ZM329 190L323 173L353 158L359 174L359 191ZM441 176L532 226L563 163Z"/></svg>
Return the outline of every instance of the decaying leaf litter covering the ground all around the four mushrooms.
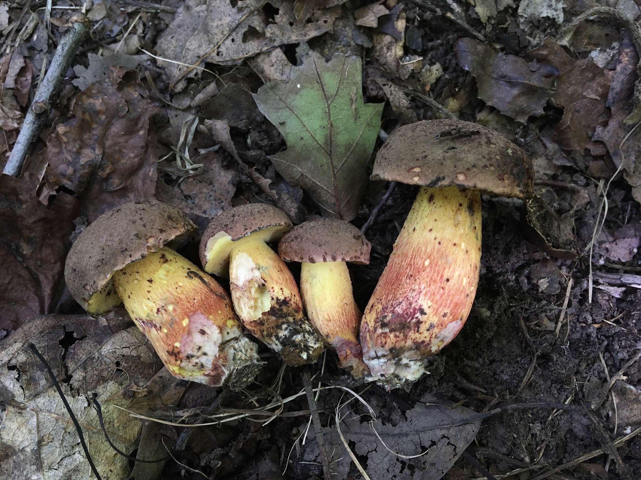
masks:
<svg viewBox="0 0 641 480"><path fill-rule="evenodd" d="M3 476L91 476L29 344L51 365L103 478L641 470L634 1L45 7L0 3L0 150L12 151L72 15L87 16L91 38L75 52L20 177L0 179ZM337 102L328 102L319 86L343 75ZM92 319L65 288L72 242L112 207L158 198L202 233L217 213L263 202L295 223L367 223L372 261L350 266L363 309L416 194L367 180L372 149L403 124L445 116L526 150L537 200L484 198L472 313L408 391L351 380L333 353L282 369L263 348L267 364L244 391L187 384L161 368L124 312ZM331 150L310 143L320 131L333 135ZM196 250L192 241L182 253L197 262ZM164 460L117 454L94 397L119 449Z"/></svg>

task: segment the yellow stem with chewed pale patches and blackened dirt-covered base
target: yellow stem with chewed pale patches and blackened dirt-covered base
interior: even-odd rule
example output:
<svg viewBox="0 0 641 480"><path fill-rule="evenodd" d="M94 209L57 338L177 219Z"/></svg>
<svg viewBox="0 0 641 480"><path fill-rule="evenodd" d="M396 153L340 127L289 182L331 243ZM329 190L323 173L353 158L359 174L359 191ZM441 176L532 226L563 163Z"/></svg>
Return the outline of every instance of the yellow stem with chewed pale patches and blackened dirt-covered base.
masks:
<svg viewBox="0 0 641 480"><path fill-rule="evenodd" d="M285 262L261 238L237 240L229 259L229 287L244 326L289 365L315 362L324 349L303 314L301 295Z"/></svg>

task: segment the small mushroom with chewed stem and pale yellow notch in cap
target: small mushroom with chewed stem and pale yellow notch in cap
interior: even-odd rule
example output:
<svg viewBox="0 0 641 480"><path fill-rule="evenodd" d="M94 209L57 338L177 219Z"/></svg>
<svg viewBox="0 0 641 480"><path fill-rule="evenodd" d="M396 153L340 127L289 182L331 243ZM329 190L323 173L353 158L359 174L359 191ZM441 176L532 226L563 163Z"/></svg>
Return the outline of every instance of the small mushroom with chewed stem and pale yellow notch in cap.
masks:
<svg viewBox="0 0 641 480"><path fill-rule="evenodd" d="M290 228L292 222L276 207L240 205L209 222L200 258L205 271L229 275L231 300L247 330L288 365L302 365L315 362L324 343L303 314L292 273L267 245Z"/></svg>

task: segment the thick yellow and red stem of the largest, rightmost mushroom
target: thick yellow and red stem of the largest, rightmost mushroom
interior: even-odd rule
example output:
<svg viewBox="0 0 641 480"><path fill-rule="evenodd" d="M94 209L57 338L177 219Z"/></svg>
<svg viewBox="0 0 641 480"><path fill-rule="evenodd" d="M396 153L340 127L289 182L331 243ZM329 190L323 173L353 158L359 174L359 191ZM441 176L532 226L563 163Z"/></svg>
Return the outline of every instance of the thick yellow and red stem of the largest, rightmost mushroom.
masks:
<svg viewBox="0 0 641 480"><path fill-rule="evenodd" d="M421 188L370 298L360 340L374 378L417 380L469 315L481 258L478 190Z"/></svg>

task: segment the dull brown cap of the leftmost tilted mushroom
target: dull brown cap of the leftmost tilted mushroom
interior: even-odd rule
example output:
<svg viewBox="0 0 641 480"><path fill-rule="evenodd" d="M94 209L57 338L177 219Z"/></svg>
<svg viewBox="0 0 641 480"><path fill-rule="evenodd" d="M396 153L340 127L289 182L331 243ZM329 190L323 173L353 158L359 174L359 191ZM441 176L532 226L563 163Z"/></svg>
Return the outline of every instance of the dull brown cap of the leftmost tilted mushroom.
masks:
<svg viewBox="0 0 641 480"><path fill-rule="evenodd" d="M183 211L158 200L116 207L89 225L69 250L65 264L67 287L81 307L91 310L91 314L101 314L121 303L113 288L115 271L194 230L196 225ZM90 307L94 294L104 297L99 301L106 305L104 309L98 304Z"/></svg>

